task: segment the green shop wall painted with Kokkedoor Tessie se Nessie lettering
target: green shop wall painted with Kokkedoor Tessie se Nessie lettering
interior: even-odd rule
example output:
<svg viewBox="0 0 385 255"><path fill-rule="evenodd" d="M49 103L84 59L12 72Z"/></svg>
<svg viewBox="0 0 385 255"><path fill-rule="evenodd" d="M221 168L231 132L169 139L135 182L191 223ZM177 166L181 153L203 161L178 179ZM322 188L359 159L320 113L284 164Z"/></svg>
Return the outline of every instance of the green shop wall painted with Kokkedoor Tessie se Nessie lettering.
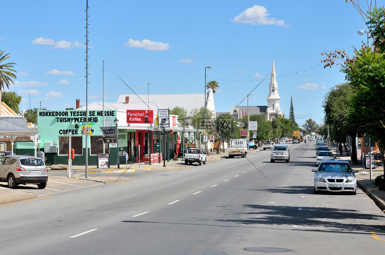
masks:
<svg viewBox="0 0 385 255"><path fill-rule="evenodd" d="M104 111L106 126L114 126L113 120L117 117L116 110ZM55 111L37 111L37 130L40 131L37 136L40 140L41 151L44 151L44 143L50 142L51 145L57 146L57 152L59 152L59 136L82 136L83 139L83 155L75 155L75 159L72 160L73 165L85 164L86 153L86 136L81 135L82 123L91 122L92 135L91 136L103 136L103 132L100 127L103 126L103 111L102 110L89 110L88 118L86 117L86 111L80 110L55 110ZM109 124L108 124L109 123ZM97 155L90 155L90 140L88 137L88 164L97 164ZM121 142L121 141L120 141ZM127 141L125 141L127 147ZM119 144L121 145L121 144ZM108 146L108 145L107 145ZM110 146L110 164L117 162L117 146L116 144L109 144ZM124 144L122 144L124 149ZM123 150L120 150L123 152ZM120 153L122 154L122 153ZM51 164L67 164L68 158L66 155L59 155L55 152L45 153L47 158L47 165ZM125 157L125 153L124 153ZM116 163L115 163L116 164Z"/></svg>

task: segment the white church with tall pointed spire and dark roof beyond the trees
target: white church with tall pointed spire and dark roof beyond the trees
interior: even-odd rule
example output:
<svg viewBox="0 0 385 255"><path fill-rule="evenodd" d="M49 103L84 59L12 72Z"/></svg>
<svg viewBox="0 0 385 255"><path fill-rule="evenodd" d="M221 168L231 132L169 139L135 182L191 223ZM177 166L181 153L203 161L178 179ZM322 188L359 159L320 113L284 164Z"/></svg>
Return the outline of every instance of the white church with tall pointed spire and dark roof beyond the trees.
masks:
<svg viewBox="0 0 385 255"><path fill-rule="evenodd" d="M266 105L249 105L248 112L250 115L259 115L265 113L267 120L274 120L280 117L283 117L283 112L279 107L279 102L281 98L278 95L278 83L275 73L274 59L273 59L273 68L270 78L270 83L268 84L268 96L266 97ZM233 115L234 120L240 119L242 116L247 116L247 106L234 105L233 109L230 111L230 114Z"/></svg>

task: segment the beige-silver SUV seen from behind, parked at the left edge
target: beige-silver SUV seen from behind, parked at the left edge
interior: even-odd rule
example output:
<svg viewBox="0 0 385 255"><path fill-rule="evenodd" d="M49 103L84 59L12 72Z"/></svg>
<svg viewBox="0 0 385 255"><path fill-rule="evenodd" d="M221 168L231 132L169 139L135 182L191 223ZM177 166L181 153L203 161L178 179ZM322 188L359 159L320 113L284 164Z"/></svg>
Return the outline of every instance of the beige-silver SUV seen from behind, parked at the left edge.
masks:
<svg viewBox="0 0 385 255"><path fill-rule="evenodd" d="M10 188L18 184L35 183L45 188L48 181L48 168L40 158L8 155L0 158L0 181L7 182Z"/></svg>

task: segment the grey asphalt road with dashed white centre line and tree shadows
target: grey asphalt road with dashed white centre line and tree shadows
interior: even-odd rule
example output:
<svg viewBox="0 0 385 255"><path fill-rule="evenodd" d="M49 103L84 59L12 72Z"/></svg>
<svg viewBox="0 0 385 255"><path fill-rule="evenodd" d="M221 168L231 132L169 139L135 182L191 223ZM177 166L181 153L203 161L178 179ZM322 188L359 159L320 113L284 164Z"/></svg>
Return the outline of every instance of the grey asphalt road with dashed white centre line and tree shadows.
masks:
<svg viewBox="0 0 385 255"><path fill-rule="evenodd" d="M313 194L314 144L0 207L4 254L382 254L384 214L357 195ZM279 250L281 249L281 250Z"/></svg>

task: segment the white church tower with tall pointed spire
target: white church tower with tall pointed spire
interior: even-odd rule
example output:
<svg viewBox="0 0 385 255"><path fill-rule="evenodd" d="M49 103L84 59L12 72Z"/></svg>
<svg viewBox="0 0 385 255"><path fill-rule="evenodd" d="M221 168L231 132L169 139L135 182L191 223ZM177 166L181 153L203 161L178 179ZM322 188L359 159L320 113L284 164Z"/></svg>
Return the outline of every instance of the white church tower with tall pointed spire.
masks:
<svg viewBox="0 0 385 255"><path fill-rule="evenodd" d="M270 83L268 84L268 96L267 100L267 120L277 119L282 117L283 113L279 108L279 101L281 98L278 95L278 83L275 74L274 59L273 59L273 68L272 75L270 78Z"/></svg>

